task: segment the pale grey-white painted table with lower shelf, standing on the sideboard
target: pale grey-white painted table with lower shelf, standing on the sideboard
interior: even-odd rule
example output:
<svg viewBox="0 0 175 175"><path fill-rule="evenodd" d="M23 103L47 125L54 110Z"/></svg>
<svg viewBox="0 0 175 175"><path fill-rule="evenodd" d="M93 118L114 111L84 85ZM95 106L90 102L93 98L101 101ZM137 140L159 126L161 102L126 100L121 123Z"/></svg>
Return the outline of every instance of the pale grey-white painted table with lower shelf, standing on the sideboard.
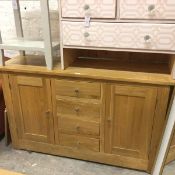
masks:
<svg viewBox="0 0 175 175"><path fill-rule="evenodd" d="M39 51L45 55L45 61L48 69L53 68L53 51L59 49L59 42L52 42L50 14L48 0L40 0L41 18L43 28L43 41L25 40L23 36L22 19L20 12L19 0L12 0L16 39L3 41L0 32L0 65L4 66L4 50L19 51L20 55L25 55L25 51Z"/></svg>

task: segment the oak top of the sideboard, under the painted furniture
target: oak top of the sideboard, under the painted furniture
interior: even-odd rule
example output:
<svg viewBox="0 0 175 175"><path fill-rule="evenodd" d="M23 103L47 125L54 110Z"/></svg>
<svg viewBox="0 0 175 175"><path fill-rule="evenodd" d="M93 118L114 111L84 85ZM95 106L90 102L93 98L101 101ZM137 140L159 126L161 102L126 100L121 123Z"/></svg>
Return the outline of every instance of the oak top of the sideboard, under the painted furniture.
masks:
<svg viewBox="0 0 175 175"><path fill-rule="evenodd" d="M42 59L42 57L40 57ZM165 69L164 64L157 64L155 67L145 67L145 64L112 64L112 62L105 62L100 60L89 62L89 60L83 60L86 62L87 67L81 67L81 61L75 63L74 66L68 67L66 70L61 70L60 63L55 64L53 70L48 70L44 66L32 66L32 64L39 61L39 56L26 56L26 57L16 57L7 62L7 65L0 67L0 72L13 72L13 73L30 73L30 74L40 74L45 76L59 76L68 78L83 78L83 79L93 79L94 81L125 81L125 82L135 82L135 83L146 83L146 84L158 84L158 85L175 85L175 80L172 79L171 75ZM21 64L23 65L21 65ZM39 62L38 62L39 63ZM30 65L26 65L30 64ZM88 67L88 64L90 65ZM105 64L107 67L111 66L111 69L105 69ZM92 67L92 65L94 67ZM114 66L114 67L113 67ZM123 70L123 67L125 69ZM146 65L145 65L146 66ZM104 67L104 68L103 68ZM117 69L116 69L116 68ZM126 69L128 67L128 69ZM112 69L113 68L113 69ZM137 69L137 71L132 71L132 69ZM147 72L144 72L144 69ZM143 70L143 71L142 71ZM149 71L148 71L149 70ZM161 72L155 73L153 71L160 70ZM152 72L152 73L151 73Z"/></svg>

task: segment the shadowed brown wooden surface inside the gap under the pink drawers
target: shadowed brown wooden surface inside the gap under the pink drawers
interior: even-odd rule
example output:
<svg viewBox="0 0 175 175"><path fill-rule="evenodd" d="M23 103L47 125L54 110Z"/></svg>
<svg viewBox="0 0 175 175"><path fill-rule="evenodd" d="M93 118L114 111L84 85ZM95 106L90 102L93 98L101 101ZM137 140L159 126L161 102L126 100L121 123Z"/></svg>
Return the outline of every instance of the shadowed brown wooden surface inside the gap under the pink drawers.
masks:
<svg viewBox="0 0 175 175"><path fill-rule="evenodd" d="M119 60L105 60L105 59L88 59L77 58L71 67L116 70L116 71L130 71L143 73L157 73L170 75L168 63L142 63L142 62L128 62Z"/></svg>

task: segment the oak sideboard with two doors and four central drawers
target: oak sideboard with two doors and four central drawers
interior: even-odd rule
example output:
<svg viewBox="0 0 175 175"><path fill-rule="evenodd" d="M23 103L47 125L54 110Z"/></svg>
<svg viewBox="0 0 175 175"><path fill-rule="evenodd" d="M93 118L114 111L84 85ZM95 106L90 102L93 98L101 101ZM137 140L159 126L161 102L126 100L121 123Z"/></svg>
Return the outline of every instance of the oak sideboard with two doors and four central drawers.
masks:
<svg viewBox="0 0 175 175"><path fill-rule="evenodd" d="M32 59L38 63L19 56L1 67L14 148L151 172L173 97L170 74L142 72L140 62L141 72L117 70L116 61L114 70L76 63L49 71Z"/></svg>

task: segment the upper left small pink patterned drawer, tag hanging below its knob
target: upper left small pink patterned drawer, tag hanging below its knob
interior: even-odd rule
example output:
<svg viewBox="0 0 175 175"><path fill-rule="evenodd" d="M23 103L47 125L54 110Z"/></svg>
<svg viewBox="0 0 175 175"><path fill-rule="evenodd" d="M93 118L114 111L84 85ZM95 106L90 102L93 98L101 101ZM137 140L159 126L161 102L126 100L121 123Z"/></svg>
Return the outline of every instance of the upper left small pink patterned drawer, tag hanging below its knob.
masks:
<svg viewBox="0 0 175 175"><path fill-rule="evenodd" d="M116 0L61 0L62 17L115 18Z"/></svg>

